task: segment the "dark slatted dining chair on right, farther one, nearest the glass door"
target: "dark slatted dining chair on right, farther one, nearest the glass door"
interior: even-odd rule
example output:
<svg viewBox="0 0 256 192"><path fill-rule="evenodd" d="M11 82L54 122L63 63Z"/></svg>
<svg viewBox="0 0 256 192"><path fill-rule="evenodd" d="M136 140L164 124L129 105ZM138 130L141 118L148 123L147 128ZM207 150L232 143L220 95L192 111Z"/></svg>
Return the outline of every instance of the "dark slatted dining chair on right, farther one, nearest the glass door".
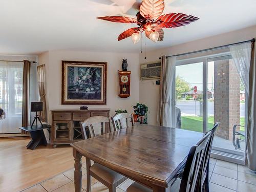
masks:
<svg viewBox="0 0 256 192"><path fill-rule="evenodd" d="M216 122L212 129L208 131L210 133L210 138L206 146L206 151L204 153L203 163L199 174L198 180L198 191L199 192L209 192L209 160L210 160L210 152L212 148L212 144L214 141L215 133L219 126L219 122ZM206 132L207 133L207 132Z"/></svg>

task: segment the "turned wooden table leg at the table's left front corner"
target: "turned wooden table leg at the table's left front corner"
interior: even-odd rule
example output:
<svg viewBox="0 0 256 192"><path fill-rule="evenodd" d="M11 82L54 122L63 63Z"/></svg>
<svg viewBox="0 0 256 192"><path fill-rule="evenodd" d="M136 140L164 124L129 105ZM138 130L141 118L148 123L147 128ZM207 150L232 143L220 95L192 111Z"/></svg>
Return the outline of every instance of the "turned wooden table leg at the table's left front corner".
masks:
<svg viewBox="0 0 256 192"><path fill-rule="evenodd" d="M73 148L73 156L75 158L75 192L81 192L82 189L82 155Z"/></svg>

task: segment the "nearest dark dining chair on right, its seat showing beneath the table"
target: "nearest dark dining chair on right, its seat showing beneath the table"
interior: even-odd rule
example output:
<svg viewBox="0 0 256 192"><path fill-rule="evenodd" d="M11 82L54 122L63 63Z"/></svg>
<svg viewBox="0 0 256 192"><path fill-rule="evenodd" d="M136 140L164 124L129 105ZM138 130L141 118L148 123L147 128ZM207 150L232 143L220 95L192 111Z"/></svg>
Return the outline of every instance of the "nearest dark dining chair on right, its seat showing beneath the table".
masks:
<svg viewBox="0 0 256 192"><path fill-rule="evenodd" d="M207 132L198 144L192 146L187 156L184 171L180 177L177 177L171 191L175 192L195 192L197 191L198 178L202 167L205 150L210 138L210 132ZM130 185L127 192L152 192L152 189L134 182Z"/></svg>

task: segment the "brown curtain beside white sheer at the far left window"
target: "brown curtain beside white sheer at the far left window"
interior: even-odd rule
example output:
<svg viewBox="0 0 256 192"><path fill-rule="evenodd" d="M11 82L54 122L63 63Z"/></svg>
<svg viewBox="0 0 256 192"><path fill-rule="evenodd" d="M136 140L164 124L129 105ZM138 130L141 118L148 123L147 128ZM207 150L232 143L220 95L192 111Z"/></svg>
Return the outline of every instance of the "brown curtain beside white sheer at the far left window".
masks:
<svg viewBox="0 0 256 192"><path fill-rule="evenodd" d="M24 60L23 66L23 101L22 101L22 126L30 125L30 66L28 60ZM28 134L22 131L22 134Z"/></svg>

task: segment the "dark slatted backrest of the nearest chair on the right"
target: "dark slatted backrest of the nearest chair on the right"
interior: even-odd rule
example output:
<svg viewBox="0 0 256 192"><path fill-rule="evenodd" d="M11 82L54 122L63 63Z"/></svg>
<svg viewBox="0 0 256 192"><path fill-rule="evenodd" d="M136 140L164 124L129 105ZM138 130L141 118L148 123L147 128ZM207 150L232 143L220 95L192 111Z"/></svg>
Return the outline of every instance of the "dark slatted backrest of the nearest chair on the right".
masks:
<svg viewBox="0 0 256 192"><path fill-rule="evenodd" d="M196 191L197 181L199 179L200 169L202 167L209 138L210 132L206 133L198 144L190 148L182 175L179 192Z"/></svg>

